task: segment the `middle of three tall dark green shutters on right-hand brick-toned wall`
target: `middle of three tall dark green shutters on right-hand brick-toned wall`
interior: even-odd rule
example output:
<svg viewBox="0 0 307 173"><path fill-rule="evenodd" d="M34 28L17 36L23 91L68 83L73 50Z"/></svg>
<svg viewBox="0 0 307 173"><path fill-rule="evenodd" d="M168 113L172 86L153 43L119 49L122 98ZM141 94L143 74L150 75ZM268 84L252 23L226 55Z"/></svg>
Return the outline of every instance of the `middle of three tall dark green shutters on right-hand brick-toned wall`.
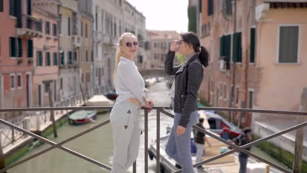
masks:
<svg viewBox="0 0 307 173"><path fill-rule="evenodd" d="M234 62L242 62L241 32L236 32L232 36L232 59Z"/></svg>

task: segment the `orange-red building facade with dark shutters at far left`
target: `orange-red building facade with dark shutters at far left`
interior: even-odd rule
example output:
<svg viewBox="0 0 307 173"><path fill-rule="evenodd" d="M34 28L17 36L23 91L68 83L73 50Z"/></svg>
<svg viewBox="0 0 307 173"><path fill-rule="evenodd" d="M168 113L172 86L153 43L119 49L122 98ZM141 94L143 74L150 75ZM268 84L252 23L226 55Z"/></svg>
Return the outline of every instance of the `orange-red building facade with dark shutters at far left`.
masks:
<svg viewBox="0 0 307 173"><path fill-rule="evenodd" d="M32 107L33 38L42 35L41 21L33 18L31 3L1 1L0 108ZM21 112L3 113L9 119Z"/></svg>

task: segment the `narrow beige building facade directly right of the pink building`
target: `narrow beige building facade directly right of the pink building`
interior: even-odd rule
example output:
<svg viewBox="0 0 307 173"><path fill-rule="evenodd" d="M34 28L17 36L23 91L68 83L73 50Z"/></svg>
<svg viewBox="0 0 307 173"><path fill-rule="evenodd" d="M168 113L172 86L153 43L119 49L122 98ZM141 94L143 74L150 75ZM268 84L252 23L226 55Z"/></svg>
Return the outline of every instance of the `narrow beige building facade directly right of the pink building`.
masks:
<svg viewBox="0 0 307 173"><path fill-rule="evenodd" d="M80 92L81 15L78 1L60 2L60 92L63 98Z"/></svg>

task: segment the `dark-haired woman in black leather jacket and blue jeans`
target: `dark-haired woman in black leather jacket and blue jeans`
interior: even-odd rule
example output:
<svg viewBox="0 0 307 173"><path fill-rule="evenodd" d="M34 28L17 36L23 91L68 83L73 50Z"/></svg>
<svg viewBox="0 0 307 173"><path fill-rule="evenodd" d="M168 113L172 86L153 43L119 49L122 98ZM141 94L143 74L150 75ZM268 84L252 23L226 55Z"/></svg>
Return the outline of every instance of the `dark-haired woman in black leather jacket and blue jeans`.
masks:
<svg viewBox="0 0 307 173"><path fill-rule="evenodd" d="M186 57L183 65L173 66L175 52ZM165 61L165 72L175 75L174 125L166 153L182 167L183 173L193 173L191 159L191 127L197 122L197 92L202 81L203 67L208 66L209 54L200 46L195 33L180 34L173 40Z"/></svg>

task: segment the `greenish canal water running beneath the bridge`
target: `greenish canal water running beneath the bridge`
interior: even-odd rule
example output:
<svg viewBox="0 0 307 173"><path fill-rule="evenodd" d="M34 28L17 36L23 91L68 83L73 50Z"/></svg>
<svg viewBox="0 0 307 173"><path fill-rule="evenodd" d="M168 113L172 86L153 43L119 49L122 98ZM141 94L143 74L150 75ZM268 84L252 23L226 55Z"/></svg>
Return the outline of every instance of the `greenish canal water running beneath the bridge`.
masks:
<svg viewBox="0 0 307 173"><path fill-rule="evenodd" d="M157 82L152 86L149 86L147 97L154 100L156 106L168 106L170 105L170 98L168 97L169 89L165 82ZM54 138L50 135L49 140L59 143L71 136L74 136L86 129L109 119L110 113L99 114L97 116L96 123L88 123L79 126L72 126L68 123L64 124L58 129L58 138ZM166 127L172 125L173 119L161 113L161 135L166 134ZM142 118L144 120L144 118ZM143 124L142 124L143 125ZM156 139L156 111L152 111L148 114L148 146L152 140ZM112 129L110 124L95 129L94 131L79 137L64 145L76 152L93 158L99 162L112 166L113 155L113 138ZM28 153L26 153L19 160L29 157L39 151L42 151L50 147L48 144L40 145ZM263 157L272 159L269 155L261 150L254 148L255 154L261 154ZM17 160L17 161L19 161ZM156 160L150 160L148 158L148 172L155 172ZM128 170L132 172L132 167ZM86 160L78 158L74 155L66 153L60 149L54 149L48 151L34 159L31 159L17 167L14 167L8 171L9 173L41 173L41 172L82 172L82 173L101 173L110 172L104 168L101 168L95 164L92 164ZM140 136L140 150L137 158L137 172L144 172L144 135Z"/></svg>

